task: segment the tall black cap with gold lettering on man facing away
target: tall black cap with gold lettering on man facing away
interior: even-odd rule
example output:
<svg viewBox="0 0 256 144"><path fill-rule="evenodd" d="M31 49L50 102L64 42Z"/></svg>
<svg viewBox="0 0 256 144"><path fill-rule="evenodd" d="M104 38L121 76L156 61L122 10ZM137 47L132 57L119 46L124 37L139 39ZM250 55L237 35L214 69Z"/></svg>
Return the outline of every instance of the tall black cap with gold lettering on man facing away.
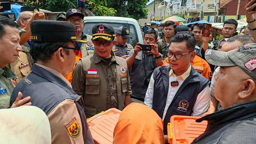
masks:
<svg viewBox="0 0 256 144"><path fill-rule="evenodd" d="M76 27L66 21L34 20L30 24L30 39L34 42L65 42L76 41L87 43L85 40L76 40Z"/></svg>

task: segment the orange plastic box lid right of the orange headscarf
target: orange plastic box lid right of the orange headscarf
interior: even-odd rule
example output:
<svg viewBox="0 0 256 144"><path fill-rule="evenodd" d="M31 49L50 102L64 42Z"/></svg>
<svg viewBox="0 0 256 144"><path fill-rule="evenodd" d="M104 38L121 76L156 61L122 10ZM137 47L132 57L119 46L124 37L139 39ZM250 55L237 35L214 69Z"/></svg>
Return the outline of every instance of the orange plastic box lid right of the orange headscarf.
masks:
<svg viewBox="0 0 256 144"><path fill-rule="evenodd" d="M204 133L207 121L200 123L195 120L201 118L196 116L171 116L167 125L168 141L170 144L190 144Z"/></svg>

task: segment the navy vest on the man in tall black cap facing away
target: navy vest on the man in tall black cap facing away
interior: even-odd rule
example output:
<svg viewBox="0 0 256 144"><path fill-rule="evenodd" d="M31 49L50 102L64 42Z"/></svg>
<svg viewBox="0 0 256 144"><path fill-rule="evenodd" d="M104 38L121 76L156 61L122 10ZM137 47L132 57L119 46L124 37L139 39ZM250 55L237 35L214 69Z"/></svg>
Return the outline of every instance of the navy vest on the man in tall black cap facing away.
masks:
<svg viewBox="0 0 256 144"><path fill-rule="evenodd" d="M32 105L42 109L48 116L62 101L72 99L81 118L84 144L93 144L94 142L83 111L81 96L77 95L61 78L40 66L34 64L31 71L13 90L10 105L15 102L18 92L21 92L23 98L31 96L30 102Z"/></svg>

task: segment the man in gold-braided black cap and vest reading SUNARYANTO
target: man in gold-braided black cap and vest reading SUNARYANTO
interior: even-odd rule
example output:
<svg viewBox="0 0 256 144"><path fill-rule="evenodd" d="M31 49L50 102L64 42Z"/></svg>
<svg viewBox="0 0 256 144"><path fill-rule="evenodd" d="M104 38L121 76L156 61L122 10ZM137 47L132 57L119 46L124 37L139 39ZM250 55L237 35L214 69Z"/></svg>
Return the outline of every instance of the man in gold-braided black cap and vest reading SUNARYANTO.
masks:
<svg viewBox="0 0 256 144"><path fill-rule="evenodd" d="M95 51L77 62L71 83L76 94L84 97L87 117L110 108L122 110L131 103L132 93L127 62L112 51L114 29L100 23L92 33Z"/></svg>

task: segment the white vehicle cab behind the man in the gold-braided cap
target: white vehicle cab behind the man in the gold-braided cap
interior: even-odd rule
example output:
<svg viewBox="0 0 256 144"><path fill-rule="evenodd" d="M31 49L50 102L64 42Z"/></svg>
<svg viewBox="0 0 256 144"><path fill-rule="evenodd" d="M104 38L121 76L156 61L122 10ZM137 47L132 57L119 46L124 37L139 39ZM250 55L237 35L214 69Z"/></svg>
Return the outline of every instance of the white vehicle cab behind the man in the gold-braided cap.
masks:
<svg viewBox="0 0 256 144"><path fill-rule="evenodd" d="M140 30L139 23L137 20L128 17L84 17L84 29L83 31L92 35L92 28L98 23L107 23L110 24L114 30L124 26L129 29L132 39L128 39L128 43L132 46L135 46L137 42L143 43L143 38Z"/></svg>

